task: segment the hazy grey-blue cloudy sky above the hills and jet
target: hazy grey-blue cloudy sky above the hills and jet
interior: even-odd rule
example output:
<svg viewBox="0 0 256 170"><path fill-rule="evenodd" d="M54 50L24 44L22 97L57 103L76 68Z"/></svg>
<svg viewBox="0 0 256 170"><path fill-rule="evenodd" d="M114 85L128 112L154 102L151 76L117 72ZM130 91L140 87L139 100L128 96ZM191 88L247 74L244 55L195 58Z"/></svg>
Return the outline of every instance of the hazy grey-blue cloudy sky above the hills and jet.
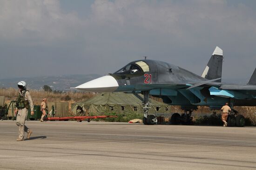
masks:
<svg viewBox="0 0 256 170"><path fill-rule="evenodd" d="M113 73L161 60L201 75L216 45L223 78L256 67L256 0L0 0L0 79Z"/></svg>

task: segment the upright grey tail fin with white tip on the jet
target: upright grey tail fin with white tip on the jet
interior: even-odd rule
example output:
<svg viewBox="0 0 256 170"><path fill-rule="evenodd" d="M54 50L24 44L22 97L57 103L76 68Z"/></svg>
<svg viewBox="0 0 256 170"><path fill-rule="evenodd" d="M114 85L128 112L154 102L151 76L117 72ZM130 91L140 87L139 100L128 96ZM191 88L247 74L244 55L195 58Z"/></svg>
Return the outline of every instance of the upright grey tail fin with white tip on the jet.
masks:
<svg viewBox="0 0 256 170"><path fill-rule="evenodd" d="M216 49L213 51L212 56L206 65L202 76L203 78L212 80L222 77L222 62L223 62L223 50L216 46ZM221 79L217 82L221 82Z"/></svg>

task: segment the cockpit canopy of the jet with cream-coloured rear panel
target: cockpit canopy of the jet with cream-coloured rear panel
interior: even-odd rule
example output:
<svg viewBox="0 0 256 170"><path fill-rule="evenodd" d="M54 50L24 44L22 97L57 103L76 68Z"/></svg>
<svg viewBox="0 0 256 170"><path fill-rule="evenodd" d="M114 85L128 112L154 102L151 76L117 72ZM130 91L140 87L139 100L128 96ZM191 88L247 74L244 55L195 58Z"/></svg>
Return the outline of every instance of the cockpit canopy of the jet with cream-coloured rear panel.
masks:
<svg viewBox="0 0 256 170"><path fill-rule="evenodd" d="M142 74L149 71L148 64L143 61L129 63L114 74L127 75L127 74Z"/></svg>

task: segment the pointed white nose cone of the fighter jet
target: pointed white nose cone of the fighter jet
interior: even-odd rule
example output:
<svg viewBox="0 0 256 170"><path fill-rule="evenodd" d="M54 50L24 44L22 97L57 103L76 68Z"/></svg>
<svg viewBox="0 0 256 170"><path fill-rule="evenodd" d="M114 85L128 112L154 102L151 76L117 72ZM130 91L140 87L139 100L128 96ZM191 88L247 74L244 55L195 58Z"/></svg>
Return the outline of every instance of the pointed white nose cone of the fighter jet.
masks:
<svg viewBox="0 0 256 170"><path fill-rule="evenodd" d="M112 76L103 76L75 88L91 92L113 92L118 88L118 83Z"/></svg>

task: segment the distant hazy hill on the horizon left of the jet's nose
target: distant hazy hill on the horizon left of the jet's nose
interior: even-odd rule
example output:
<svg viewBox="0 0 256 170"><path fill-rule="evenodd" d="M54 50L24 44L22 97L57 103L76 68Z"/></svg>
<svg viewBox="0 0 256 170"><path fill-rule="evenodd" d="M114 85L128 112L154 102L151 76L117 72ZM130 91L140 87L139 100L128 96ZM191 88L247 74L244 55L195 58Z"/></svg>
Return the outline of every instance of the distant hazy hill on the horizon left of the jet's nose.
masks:
<svg viewBox="0 0 256 170"><path fill-rule="evenodd" d="M28 89L42 89L44 85L48 85L53 90L64 90L65 88L76 87L100 76L101 75L90 74L0 79L0 88L17 88L17 83L23 80L27 82Z"/></svg>

